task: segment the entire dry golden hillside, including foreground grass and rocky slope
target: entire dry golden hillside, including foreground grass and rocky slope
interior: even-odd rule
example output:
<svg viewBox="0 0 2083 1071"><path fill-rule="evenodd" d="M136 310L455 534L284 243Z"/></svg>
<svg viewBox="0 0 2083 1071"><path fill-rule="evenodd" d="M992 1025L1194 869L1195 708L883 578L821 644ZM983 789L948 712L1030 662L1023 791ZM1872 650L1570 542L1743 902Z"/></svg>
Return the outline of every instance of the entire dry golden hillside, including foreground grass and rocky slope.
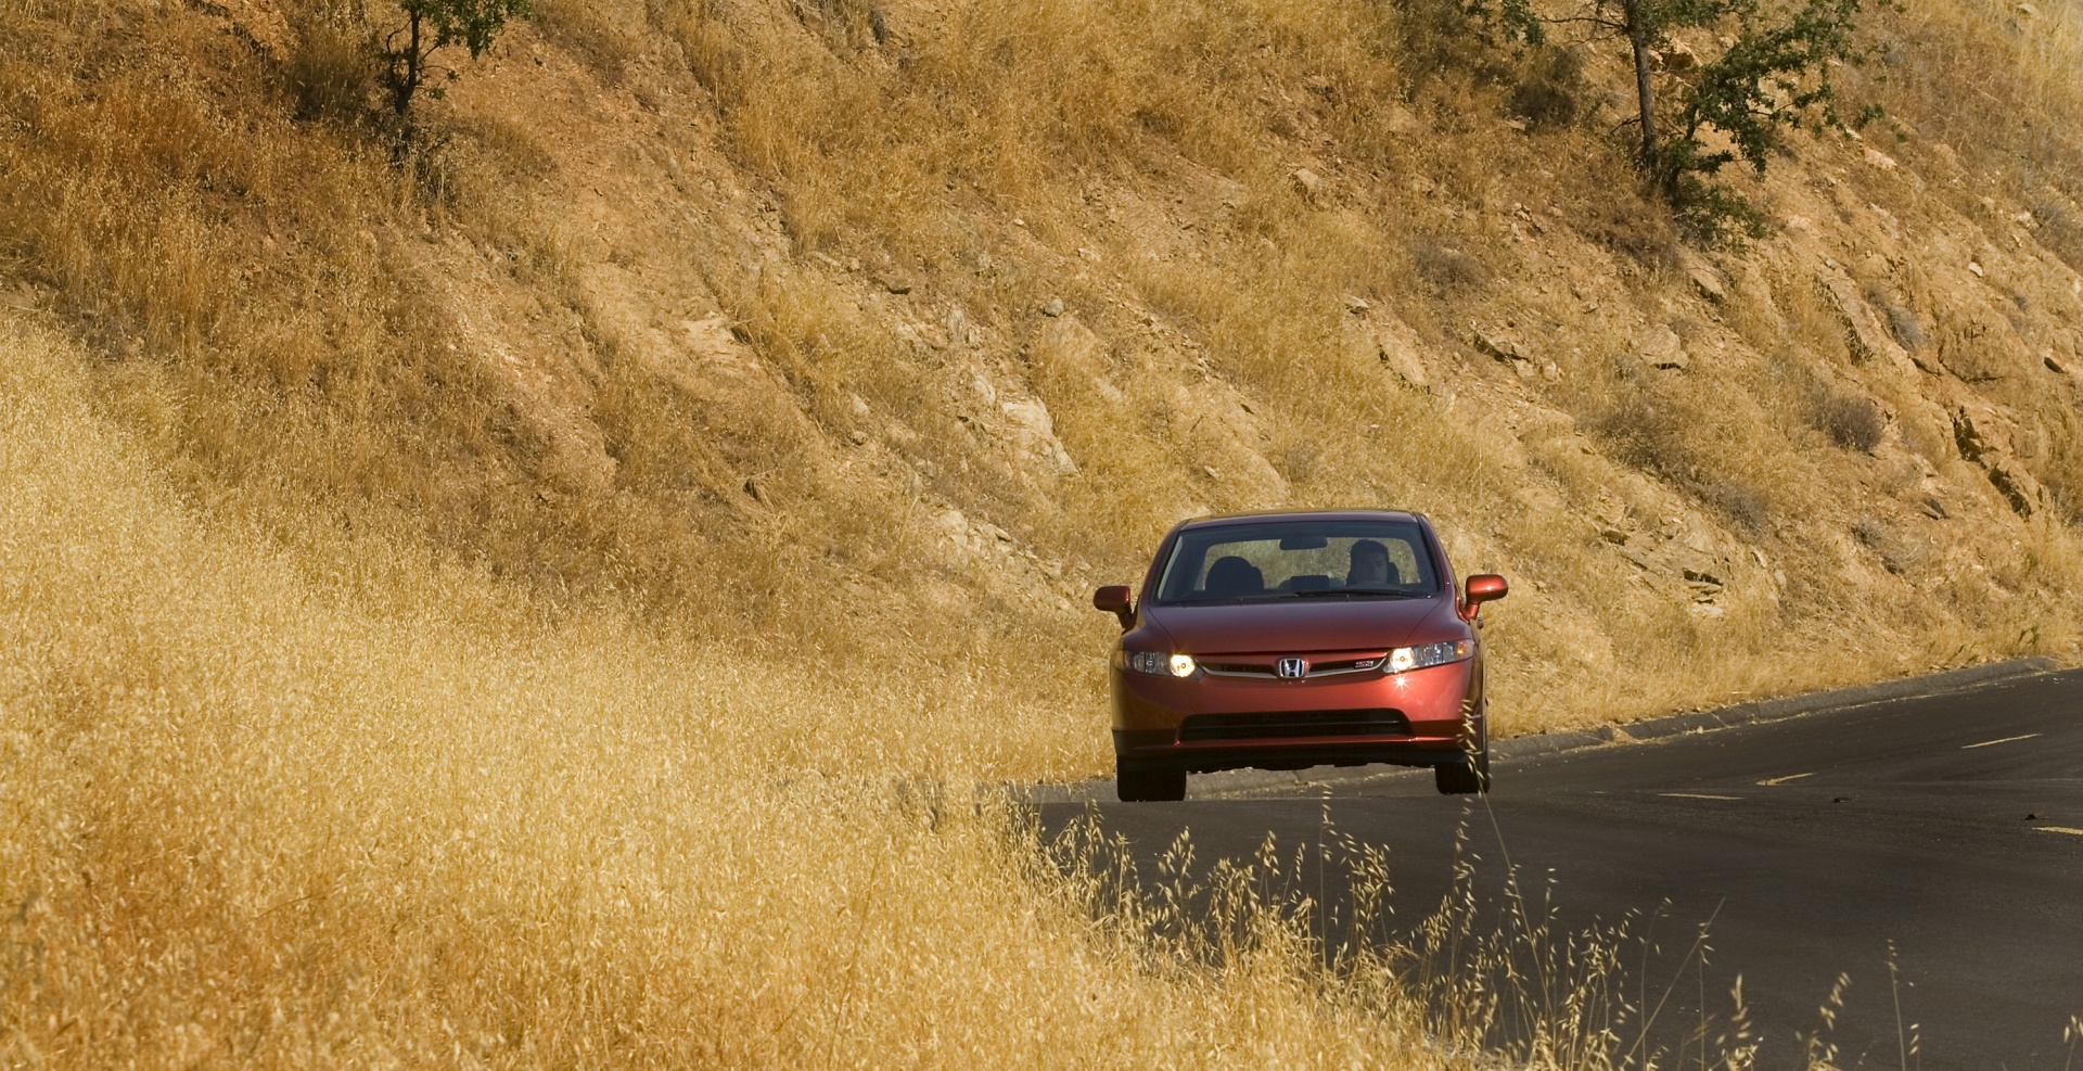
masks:
<svg viewBox="0 0 2083 1071"><path fill-rule="evenodd" d="M546 0L404 148L365 17L0 0L10 1061L1444 1061L892 790L1102 771L1196 513L1433 515L1504 733L2083 642L2073 0L1743 248L1458 4Z"/></svg>

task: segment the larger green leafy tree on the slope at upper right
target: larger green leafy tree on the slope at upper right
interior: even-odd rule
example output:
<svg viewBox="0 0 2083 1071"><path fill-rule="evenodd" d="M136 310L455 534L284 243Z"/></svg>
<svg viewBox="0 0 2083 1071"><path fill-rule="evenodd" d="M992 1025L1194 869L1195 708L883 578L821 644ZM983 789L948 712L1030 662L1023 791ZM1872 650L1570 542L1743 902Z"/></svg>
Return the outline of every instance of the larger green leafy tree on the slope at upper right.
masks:
<svg viewBox="0 0 2083 1071"><path fill-rule="evenodd" d="M1891 6L1893 0L1875 0ZM1539 15L1531 0L1500 0L1471 10L1502 23L1508 38L1544 44L1550 25L1589 27L1591 40L1627 42L1635 71L1637 160L1662 196L1681 210L1727 219L1746 206L1706 179L1743 160L1764 171L1785 131L1808 127L1848 131L1879 115L1864 108L1850 121L1837 106L1831 69L1873 54L1856 38L1862 0L1575 0L1560 15ZM1685 56L1673 33L1702 29L1725 35L1710 60L1658 63ZM1729 33L1733 31L1733 33ZM1708 133L1725 144L1710 148Z"/></svg>

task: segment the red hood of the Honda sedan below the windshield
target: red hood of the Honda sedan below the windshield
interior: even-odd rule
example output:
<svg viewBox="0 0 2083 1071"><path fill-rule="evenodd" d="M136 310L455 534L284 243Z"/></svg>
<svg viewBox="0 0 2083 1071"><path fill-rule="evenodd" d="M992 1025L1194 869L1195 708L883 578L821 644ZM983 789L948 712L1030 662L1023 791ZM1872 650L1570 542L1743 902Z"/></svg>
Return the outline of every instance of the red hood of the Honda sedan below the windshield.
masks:
<svg viewBox="0 0 2083 1071"><path fill-rule="evenodd" d="M1150 606L1144 619L1196 656L1387 650L1469 633L1446 596Z"/></svg>

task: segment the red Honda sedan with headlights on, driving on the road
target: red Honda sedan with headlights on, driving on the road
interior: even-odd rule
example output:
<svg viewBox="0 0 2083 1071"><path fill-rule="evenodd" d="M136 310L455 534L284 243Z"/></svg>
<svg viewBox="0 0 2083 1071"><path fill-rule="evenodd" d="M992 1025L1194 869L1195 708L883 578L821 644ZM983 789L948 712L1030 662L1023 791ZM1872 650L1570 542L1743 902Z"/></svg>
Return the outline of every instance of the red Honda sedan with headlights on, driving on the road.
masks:
<svg viewBox="0 0 2083 1071"><path fill-rule="evenodd" d="M1416 513L1254 513L1164 536L1112 661L1123 800L1181 800L1185 775L1396 763L1439 792L1489 788L1483 633L1504 577L1466 592Z"/></svg>

